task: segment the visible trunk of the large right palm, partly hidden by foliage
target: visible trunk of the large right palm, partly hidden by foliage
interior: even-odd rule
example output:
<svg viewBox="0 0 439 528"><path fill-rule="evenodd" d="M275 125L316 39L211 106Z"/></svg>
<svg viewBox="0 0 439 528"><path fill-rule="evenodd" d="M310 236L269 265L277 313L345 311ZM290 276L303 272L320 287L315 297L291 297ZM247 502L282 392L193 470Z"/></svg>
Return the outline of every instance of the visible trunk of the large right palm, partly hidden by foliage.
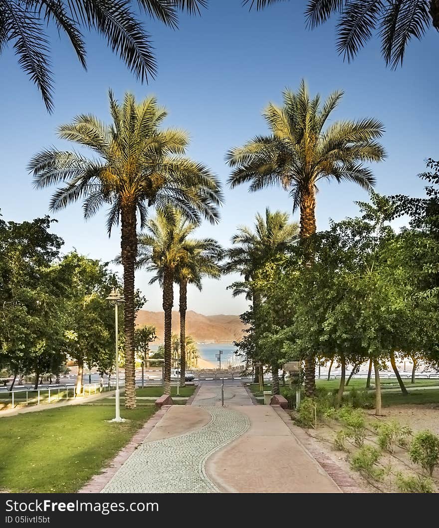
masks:
<svg viewBox="0 0 439 528"><path fill-rule="evenodd" d="M316 232L316 192L314 186L302 190L300 200L300 239L306 241ZM312 248L305 248L307 265L313 261ZM305 358L305 394L310 397L316 393L316 354L310 351Z"/></svg>

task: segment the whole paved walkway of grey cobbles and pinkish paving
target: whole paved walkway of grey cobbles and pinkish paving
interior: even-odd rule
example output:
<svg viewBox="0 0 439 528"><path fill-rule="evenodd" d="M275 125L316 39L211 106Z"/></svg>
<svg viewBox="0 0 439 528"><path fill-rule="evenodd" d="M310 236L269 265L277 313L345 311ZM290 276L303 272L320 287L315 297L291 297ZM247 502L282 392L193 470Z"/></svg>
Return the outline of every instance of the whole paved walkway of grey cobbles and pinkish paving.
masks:
<svg viewBox="0 0 439 528"><path fill-rule="evenodd" d="M191 406L171 406L99 488L82 491L340 493L284 411L253 405L236 382L224 385L224 403L221 382L203 383Z"/></svg>

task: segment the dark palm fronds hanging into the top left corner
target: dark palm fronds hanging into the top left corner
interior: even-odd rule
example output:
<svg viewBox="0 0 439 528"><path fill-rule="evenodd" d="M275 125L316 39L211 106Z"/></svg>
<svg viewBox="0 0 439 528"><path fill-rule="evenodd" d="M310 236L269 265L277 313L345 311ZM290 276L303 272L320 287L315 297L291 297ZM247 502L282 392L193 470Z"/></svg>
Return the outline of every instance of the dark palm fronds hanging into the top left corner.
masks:
<svg viewBox="0 0 439 528"><path fill-rule="evenodd" d="M139 14L147 13L167 26L177 27L177 10L199 13L205 0L138 0L136 13L131 0L2 0L0 3L0 53L13 43L18 63L36 84L47 110L53 110L53 76L49 37L44 26L52 22L72 44L86 69L83 30L106 37L109 48L119 54L142 82L156 73L153 47Z"/></svg>

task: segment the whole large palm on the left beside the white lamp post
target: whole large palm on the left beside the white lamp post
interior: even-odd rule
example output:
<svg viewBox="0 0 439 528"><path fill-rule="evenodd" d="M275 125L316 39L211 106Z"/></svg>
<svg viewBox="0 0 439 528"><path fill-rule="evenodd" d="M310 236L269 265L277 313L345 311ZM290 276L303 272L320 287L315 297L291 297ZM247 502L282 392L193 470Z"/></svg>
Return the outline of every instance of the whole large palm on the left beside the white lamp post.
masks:
<svg viewBox="0 0 439 528"><path fill-rule="evenodd" d="M146 225L148 209L169 217L169 206L193 223L204 216L215 223L221 203L219 183L211 172L184 156L187 134L161 130L166 110L154 97L137 104L126 93L119 104L110 91L111 125L81 115L59 127L59 137L88 147L98 157L55 148L30 162L36 188L63 184L52 196L52 211L82 200L87 220L109 205L107 229L121 222L121 263L125 295L126 407L136 406L134 362L134 271L137 259L137 215Z"/></svg>

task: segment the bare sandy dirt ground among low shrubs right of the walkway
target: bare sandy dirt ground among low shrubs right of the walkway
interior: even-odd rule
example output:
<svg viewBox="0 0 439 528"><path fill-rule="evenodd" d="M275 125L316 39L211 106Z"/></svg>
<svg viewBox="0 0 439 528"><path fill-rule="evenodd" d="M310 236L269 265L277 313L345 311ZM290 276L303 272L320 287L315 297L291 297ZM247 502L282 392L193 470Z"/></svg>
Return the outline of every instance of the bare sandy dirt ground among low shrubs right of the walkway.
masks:
<svg viewBox="0 0 439 528"><path fill-rule="evenodd" d="M413 433L422 430L430 430L439 435L439 406L431 403L425 405L404 405L386 407L383 409L384 416L376 418L374 411L365 411L367 416L367 435L365 445L378 447L376 442L377 433L373 429L373 423L377 419L383 421L397 420L400 425L408 426ZM395 446L393 454L383 452L379 459L378 467L384 469L384 477L381 480L374 480L368 476L360 475L352 469L349 464L349 457L354 454L356 447L349 440L346 441L347 451L340 451L333 445L333 439L342 426L335 420L326 420L326 423L318 426L317 430L309 429L308 434L316 439L320 449L326 452L336 464L345 470L357 485L367 493L400 493L396 486L397 474L422 475L422 468L413 464L408 457L407 449ZM432 477L436 493L439 492L439 468L435 468Z"/></svg>

